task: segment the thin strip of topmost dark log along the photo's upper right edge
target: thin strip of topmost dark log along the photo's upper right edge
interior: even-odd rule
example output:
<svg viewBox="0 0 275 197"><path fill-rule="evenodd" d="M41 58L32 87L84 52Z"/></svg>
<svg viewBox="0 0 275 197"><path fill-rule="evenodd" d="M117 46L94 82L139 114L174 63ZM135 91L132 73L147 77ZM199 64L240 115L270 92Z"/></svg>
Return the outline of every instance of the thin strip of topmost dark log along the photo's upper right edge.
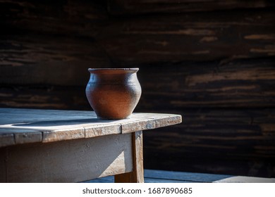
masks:
<svg viewBox="0 0 275 197"><path fill-rule="evenodd" d="M133 15L144 13L181 13L190 11L216 11L236 8L264 8L274 6L272 1L212 1L212 0L111 0L108 1L112 15Z"/></svg>

